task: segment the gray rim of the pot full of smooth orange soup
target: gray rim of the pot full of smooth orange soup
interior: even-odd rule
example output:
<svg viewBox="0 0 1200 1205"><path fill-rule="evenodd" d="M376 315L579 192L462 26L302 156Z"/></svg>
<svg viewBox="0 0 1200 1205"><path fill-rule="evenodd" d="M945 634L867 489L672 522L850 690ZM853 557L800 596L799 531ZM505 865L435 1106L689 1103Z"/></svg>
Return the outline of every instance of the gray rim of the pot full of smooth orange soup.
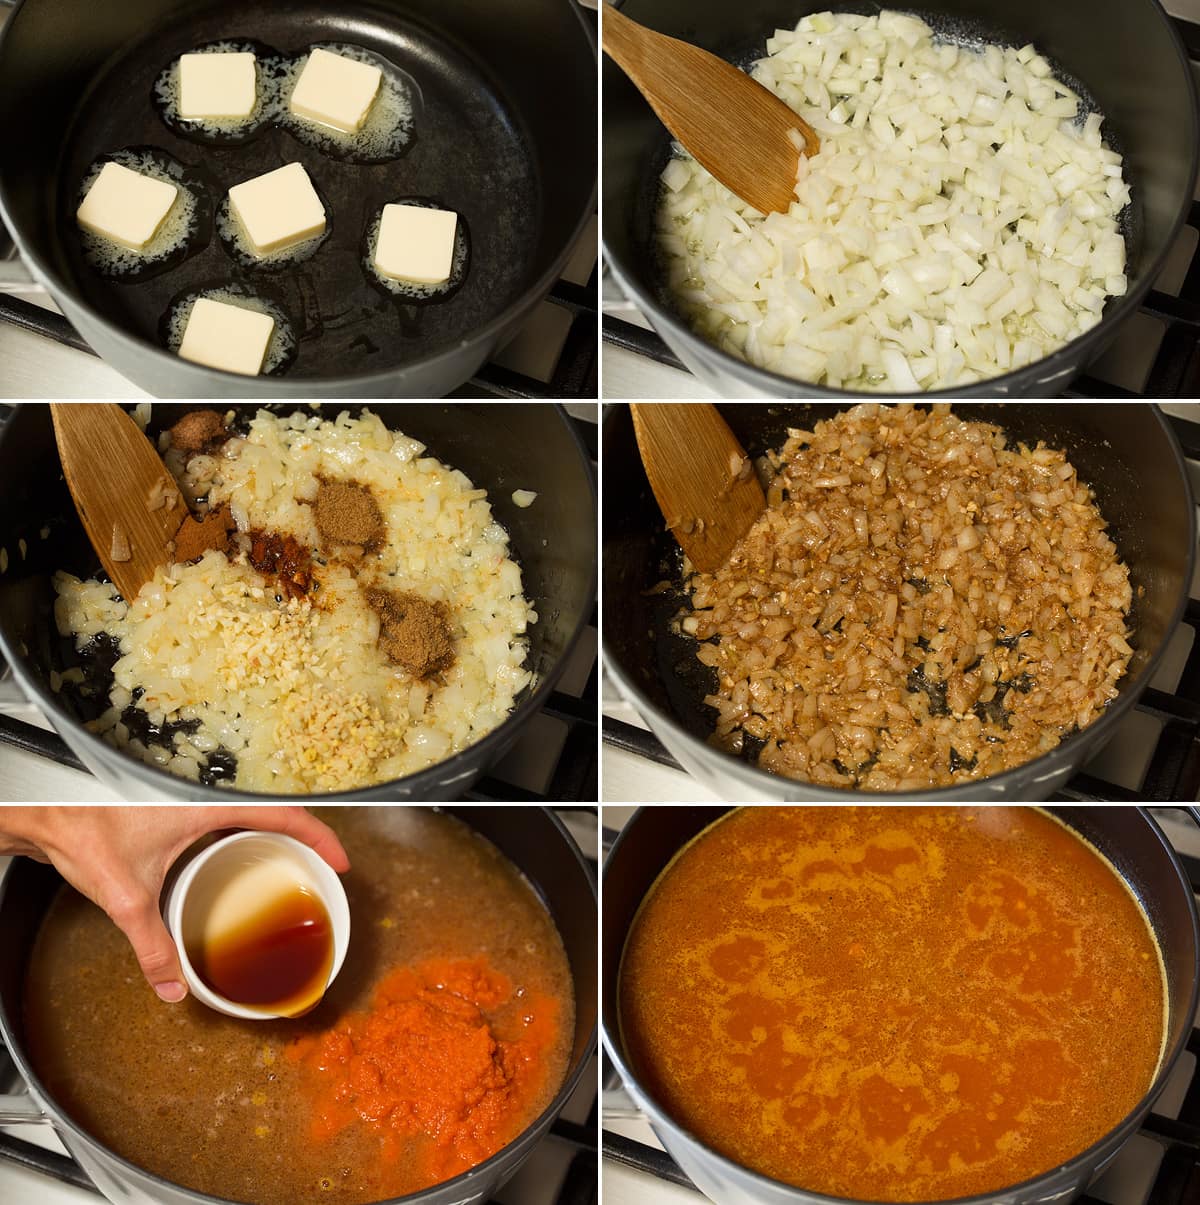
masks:
<svg viewBox="0 0 1200 1205"><path fill-rule="evenodd" d="M719 805L713 804L704 806L716 807ZM639 807L637 811L634 812L634 815L625 823L624 828L622 828L620 833L617 836L617 840L612 845L612 848L608 851L607 858L605 858L604 875L607 875L608 866L612 864L617 850L620 847L622 841L625 840L627 833L629 833L630 829L633 828L634 821L637 819L637 816L643 810L645 805L642 807ZM1142 821L1149 827L1154 836L1157 836L1159 842L1161 844L1163 850L1166 853L1167 859L1170 860L1171 869L1175 872L1180 887L1183 890L1183 894L1188 903L1188 911L1192 917L1192 971L1193 971L1192 992L1188 1000L1188 1016L1189 1017L1195 1016L1196 1006L1198 1004L1200 1004L1200 915L1198 915L1196 912L1196 899L1195 895L1192 893L1192 887L1188 882L1187 874L1183 870L1183 865L1180 862L1178 854L1175 852L1175 848L1171 845L1171 842L1166 839L1166 834L1163 831L1163 829L1154 819L1154 817L1151 815L1148 809L1137 807L1135 810L1141 816ZM1196 819L1196 823L1200 824L1200 819ZM1120 878L1123 882L1128 883L1128 880L1125 878L1124 875L1120 875ZM1154 935L1154 944L1158 945L1158 934ZM624 956L624 944L622 944L620 954L622 957ZM602 994L604 993L601 988L601 997ZM601 999L601 1005L602 1003L604 1001ZM1137 1125L1141 1124L1141 1118L1153 1106L1154 1101L1163 1093L1164 1088L1166 1087L1166 1081L1170 1078L1171 1072L1175 1070L1176 1065L1180 1062L1180 1058L1187 1050L1188 1038L1190 1035L1190 1031L1192 1030L1189 1025L1184 1025L1182 1028L1180 1038L1175 1044L1175 1048L1172 1051L1169 1051L1166 1056L1163 1058L1163 1062L1160 1063L1158 1069L1158 1074L1154 1076L1154 1080L1152 1081L1149 1088L1147 1088L1146 1093L1142 1095L1142 1099L1133 1107L1133 1110L1129 1113L1125 1115L1125 1117L1120 1119L1120 1122L1118 1122L1111 1130L1102 1134L1095 1142L1092 1144L1092 1146L1087 1147L1087 1150L1081 1151L1073 1158L1067 1159L1066 1163L1057 1164L1055 1166L1047 1169L1040 1175L1031 1176L1029 1180L1024 1180L1020 1183L1006 1185L1002 1188L996 1188L990 1193L977 1193L973 1197L955 1197L949 1200L925 1203L925 1205L996 1205L998 1201L1005 1200L1010 1194L1014 1194L1014 1199L1019 1199L1019 1195L1023 1192L1029 1189L1035 1189L1039 1185L1041 1185L1043 1181L1051 1177L1057 1177L1060 1175L1083 1176L1088 1174L1089 1165L1094 1171L1095 1170L1094 1165L1096 1165L1100 1162L1098 1159L1100 1148L1107 1146L1113 1139L1117 1139L1118 1135L1119 1140L1112 1153L1114 1154L1117 1150L1123 1147L1125 1142L1128 1142L1129 1139L1133 1136L1133 1133L1137 1128ZM622 1082L625 1084L635 1084L637 1088L637 1095L641 1097L641 1099L645 1100L646 1104L651 1106L651 1111L648 1111L647 1116L654 1123L655 1128L661 1125L664 1129L678 1133L688 1142L702 1150L708 1158L713 1159L720 1166L722 1171L731 1174L740 1180L748 1180L752 1185L760 1186L772 1192L778 1192L780 1189L793 1192L796 1194L796 1205L888 1205L888 1203L886 1201L866 1201L849 1197L827 1197L822 1193L814 1193L806 1188L798 1188L795 1185L788 1185L781 1180L772 1180L770 1176L764 1176L761 1172L752 1171L749 1168L745 1168L742 1166L742 1164L735 1163L733 1159L729 1159L725 1156L718 1153L717 1151L713 1151L704 1141L696 1138L696 1135L693 1134L689 1129L681 1125L678 1122L673 1121L670 1116L667 1116L665 1110L663 1110L654 1100L654 1098L648 1092L646 1092L646 1089L641 1086L641 1082L630 1070L629 1064L627 1063L624 1054L622 1053L619 1039L617 1040L613 1039L613 1036L608 1033L608 1024L604 1019L601 1023L601 1038L604 1041L604 1048L608 1052L608 1057L612 1059L613 1065L620 1074ZM1196 1074L1200 1075L1200 1066L1196 1068ZM916 1203L916 1205L922 1205L922 1203Z"/></svg>

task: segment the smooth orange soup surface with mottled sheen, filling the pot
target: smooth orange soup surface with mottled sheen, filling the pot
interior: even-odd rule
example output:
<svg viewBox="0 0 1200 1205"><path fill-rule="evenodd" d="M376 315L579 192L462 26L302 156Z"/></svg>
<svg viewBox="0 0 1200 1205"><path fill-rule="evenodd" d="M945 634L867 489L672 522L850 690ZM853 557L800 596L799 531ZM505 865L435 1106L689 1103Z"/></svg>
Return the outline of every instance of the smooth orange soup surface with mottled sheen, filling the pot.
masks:
<svg viewBox="0 0 1200 1205"><path fill-rule="evenodd" d="M1161 960L1112 868L1023 807L748 807L639 912L634 1070L706 1145L836 1197L946 1200L1081 1153L1141 1099Z"/></svg>

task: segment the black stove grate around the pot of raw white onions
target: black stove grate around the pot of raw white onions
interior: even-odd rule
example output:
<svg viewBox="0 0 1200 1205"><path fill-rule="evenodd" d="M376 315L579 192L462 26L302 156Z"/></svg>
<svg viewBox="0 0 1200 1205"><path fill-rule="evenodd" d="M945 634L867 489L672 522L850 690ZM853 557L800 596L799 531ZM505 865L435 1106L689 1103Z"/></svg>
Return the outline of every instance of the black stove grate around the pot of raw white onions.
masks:
<svg viewBox="0 0 1200 1205"><path fill-rule="evenodd" d="M1171 17L1176 33L1193 64L1200 64L1200 24ZM1193 201L1187 224L1200 233L1200 201ZM1180 295L1172 296L1151 289L1139 307L1139 313L1157 319L1165 327L1163 341L1146 378L1145 393L1135 393L1110 384L1096 377L1077 377L1064 398L1195 398L1200 394L1200 239L1192 253L1192 263ZM657 364L688 371L680 358L653 330L605 315L604 341L635 355L645 355Z"/></svg>

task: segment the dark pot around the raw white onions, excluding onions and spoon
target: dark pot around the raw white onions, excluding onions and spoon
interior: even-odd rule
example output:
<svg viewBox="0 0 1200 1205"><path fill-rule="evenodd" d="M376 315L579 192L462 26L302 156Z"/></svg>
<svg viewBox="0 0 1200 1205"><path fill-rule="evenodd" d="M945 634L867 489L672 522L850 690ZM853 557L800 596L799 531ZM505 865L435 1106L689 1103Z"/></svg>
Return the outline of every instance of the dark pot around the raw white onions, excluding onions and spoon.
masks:
<svg viewBox="0 0 1200 1205"><path fill-rule="evenodd" d="M1192 205L1200 134L1192 70L1158 0L628 0L623 11L652 29L746 66L776 28L810 12L901 8L952 36L1023 46L1033 41L1078 81L1105 114L1105 136L1124 155L1133 201L1125 216L1129 292L1099 325L1016 372L947 396L1052 396L1107 345L1136 310ZM610 60L604 63L604 246L627 294L681 360L727 398L848 398L752 368L694 334L667 299L654 252L654 207L669 140L653 111ZM1151 84L1149 81L1153 81ZM857 394L854 396L861 396Z"/></svg>

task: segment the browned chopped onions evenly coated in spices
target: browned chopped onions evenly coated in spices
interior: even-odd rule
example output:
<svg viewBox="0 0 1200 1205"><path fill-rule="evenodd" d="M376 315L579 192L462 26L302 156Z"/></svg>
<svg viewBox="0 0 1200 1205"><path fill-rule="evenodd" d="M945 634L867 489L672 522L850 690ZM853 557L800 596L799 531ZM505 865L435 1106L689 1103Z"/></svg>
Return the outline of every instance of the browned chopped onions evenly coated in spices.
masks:
<svg viewBox="0 0 1200 1205"><path fill-rule="evenodd" d="M690 582L714 743L808 782L922 789L1029 762L1116 698L1129 570L1063 452L945 404L788 434L766 511Z"/></svg>

